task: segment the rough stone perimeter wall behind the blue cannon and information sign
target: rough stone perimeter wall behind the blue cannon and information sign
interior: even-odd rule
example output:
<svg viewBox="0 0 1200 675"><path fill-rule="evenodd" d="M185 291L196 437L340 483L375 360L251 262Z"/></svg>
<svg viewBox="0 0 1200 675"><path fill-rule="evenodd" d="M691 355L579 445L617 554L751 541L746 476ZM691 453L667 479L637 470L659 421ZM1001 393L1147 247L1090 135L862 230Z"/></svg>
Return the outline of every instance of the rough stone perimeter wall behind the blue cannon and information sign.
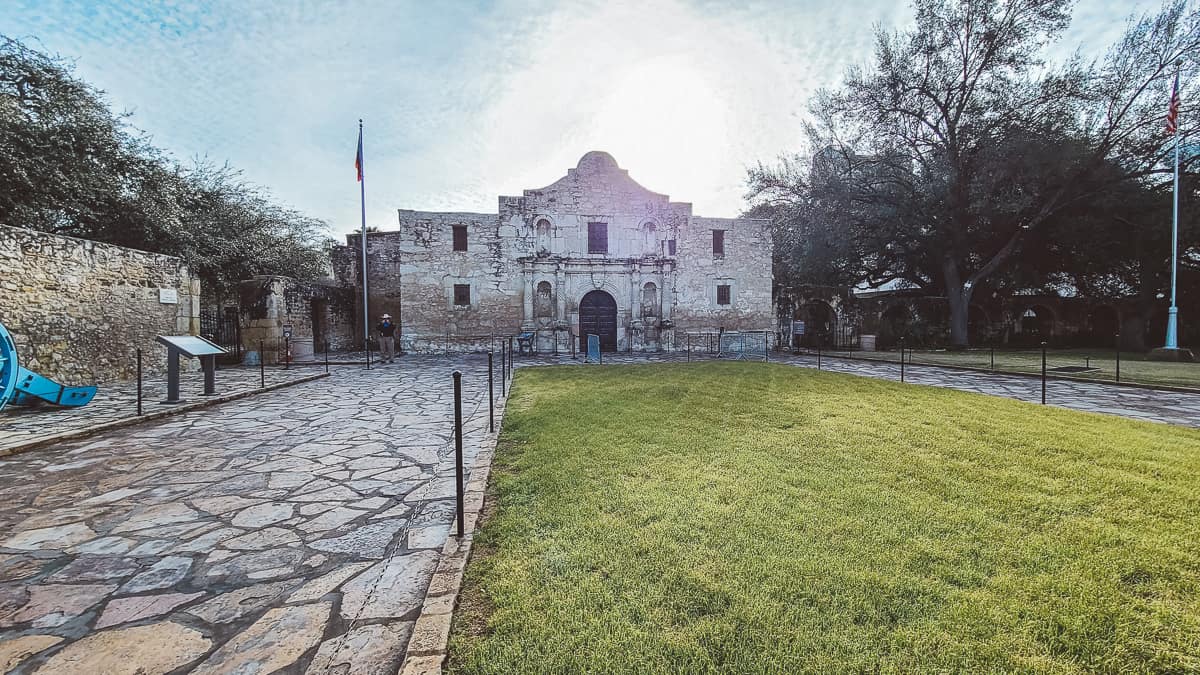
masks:
<svg viewBox="0 0 1200 675"><path fill-rule="evenodd" d="M0 323L34 372L64 384L131 378L138 347L145 374L163 372L155 336L198 334L199 307L200 282L179 258L0 226Z"/></svg>

